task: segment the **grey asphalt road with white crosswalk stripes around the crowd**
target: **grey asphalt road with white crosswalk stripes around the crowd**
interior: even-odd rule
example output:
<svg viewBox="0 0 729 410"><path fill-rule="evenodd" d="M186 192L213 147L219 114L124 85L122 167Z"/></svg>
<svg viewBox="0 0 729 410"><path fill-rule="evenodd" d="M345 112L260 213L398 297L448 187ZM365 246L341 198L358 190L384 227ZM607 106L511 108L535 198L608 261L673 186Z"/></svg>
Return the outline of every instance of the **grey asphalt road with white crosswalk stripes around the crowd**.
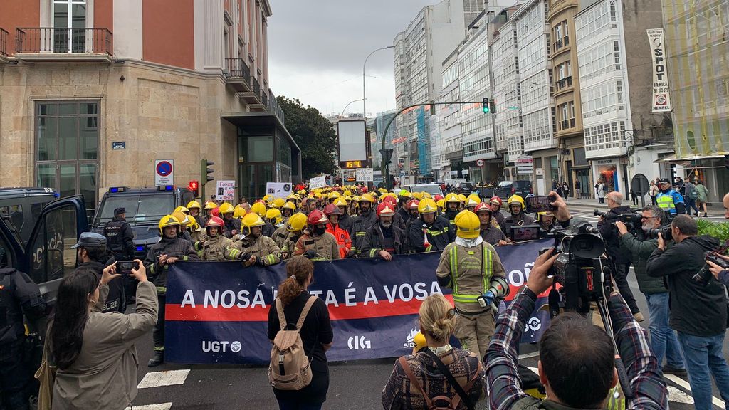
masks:
<svg viewBox="0 0 729 410"><path fill-rule="evenodd" d="M585 217L595 223L597 217L591 209L573 209L574 216ZM634 274L629 276L631 288L646 319L647 307L639 293ZM648 320L642 323L645 328ZM337 341L335 341L337 343ZM725 352L729 342L725 341ZM165 363L157 368L147 368L152 357L152 335L137 345L139 352L139 395L134 401L135 410L229 410L229 409L278 409L276 399L268 384L267 368L244 365L176 365ZM537 367L536 345L521 347L521 362ZM330 363L330 390L324 409L382 409L381 392L392 371L395 359L360 360ZM147 378L145 379L145 376ZM671 409L693 409L687 378L668 376ZM143 380L144 379L144 380ZM714 403L721 406L719 395ZM480 401L478 409L486 409Z"/></svg>

